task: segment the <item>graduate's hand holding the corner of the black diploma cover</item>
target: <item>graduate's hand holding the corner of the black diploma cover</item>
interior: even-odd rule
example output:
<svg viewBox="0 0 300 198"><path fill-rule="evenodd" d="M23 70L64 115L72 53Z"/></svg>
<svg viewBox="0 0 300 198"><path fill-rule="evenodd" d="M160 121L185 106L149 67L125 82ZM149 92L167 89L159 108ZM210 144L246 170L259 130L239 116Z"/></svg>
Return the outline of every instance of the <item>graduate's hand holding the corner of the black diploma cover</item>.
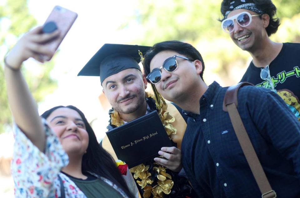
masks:
<svg viewBox="0 0 300 198"><path fill-rule="evenodd" d="M158 154L167 158L154 158L158 164L170 169L171 171L179 172L182 168L181 164L181 151L172 146L172 147L162 147L161 151L158 151Z"/></svg>

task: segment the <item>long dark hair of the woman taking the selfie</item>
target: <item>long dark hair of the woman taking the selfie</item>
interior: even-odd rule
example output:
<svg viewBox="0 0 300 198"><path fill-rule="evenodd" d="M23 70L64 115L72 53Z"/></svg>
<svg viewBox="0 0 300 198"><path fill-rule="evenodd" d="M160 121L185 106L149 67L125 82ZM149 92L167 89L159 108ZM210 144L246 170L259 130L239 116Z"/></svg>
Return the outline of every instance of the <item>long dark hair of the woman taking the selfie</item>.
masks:
<svg viewBox="0 0 300 198"><path fill-rule="evenodd" d="M89 141L87 152L83 155L82 158L82 171L89 171L109 179L110 181L118 185L129 197L133 197L112 156L107 151L105 151L102 146L99 145L95 133L82 111L72 105L55 106L45 111L41 115L41 117L47 119L47 117L50 116L50 114L58 108L69 108L77 111L85 124Z"/></svg>

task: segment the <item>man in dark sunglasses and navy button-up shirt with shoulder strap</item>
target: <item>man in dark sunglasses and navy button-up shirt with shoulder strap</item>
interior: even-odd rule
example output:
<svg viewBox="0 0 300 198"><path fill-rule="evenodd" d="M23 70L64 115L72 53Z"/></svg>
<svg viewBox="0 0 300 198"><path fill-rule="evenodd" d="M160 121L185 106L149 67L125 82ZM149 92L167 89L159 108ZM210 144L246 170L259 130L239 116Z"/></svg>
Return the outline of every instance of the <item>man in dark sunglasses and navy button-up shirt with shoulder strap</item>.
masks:
<svg viewBox="0 0 300 198"><path fill-rule="evenodd" d="M228 112L222 108L227 87L205 84L200 53L188 43L160 42L146 53L144 67L158 92L189 117L182 164L198 196L262 197ZM300 122L268 89L241 87L237 101L272 189L278 197L300 197Z"/></svg>

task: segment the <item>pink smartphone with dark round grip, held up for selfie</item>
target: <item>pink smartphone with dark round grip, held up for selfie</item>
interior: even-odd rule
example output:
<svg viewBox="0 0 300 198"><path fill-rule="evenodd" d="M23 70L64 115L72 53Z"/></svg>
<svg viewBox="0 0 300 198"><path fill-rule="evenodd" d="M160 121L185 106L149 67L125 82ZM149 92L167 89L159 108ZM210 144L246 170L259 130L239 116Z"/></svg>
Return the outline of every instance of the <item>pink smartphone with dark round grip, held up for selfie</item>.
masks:
<svg viewBox="0 0 300 198"><path fill-rule="evenodd" d="M60 35L56 37L55 39L45 43L49 47L49 49L52 49L53 51L56 51L60 43L63 41L63 38L66 36L70 28L72 27L73 23L75 22L78 14L76 12L73 12L71 10L68 10L66 8L55 6L52 10L52 12L49 14L48 18L46 19L44 23L44 27L46 25L50 24L50 32L54 31L55 29L60 30ZM54 29L53 29L53 24ZM49 26L47 26L49 27ZM43 28L44 29L44 28ZM49 28L48 28L49 30ZM47 31L43 31L42 33L45 33ZM50 33L48 31L48 33ZM52 57L43 56L44 60L51 60Z"/></svg>

